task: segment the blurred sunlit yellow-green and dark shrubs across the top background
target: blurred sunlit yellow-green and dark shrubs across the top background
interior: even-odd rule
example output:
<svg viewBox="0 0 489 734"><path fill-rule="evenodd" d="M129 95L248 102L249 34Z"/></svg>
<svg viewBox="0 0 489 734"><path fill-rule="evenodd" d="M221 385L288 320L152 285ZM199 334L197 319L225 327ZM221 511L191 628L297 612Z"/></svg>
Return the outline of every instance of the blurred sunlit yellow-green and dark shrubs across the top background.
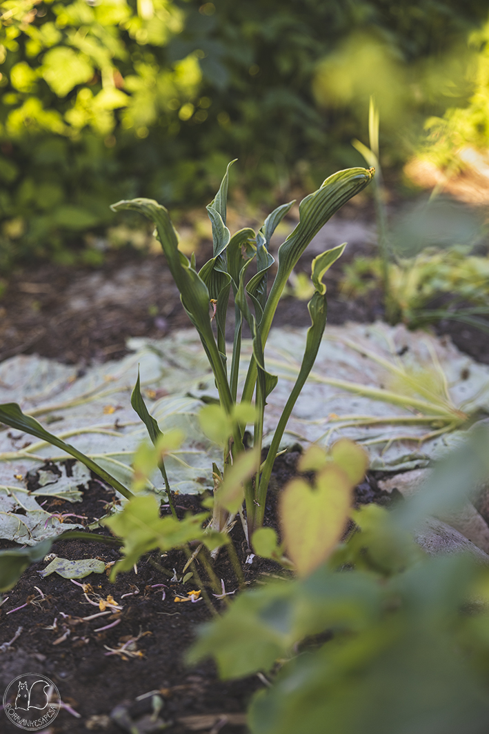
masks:
<svg viewBox="0 0 489 734"><path fill-rule="evenodd" d="M358 163L349 140L372 79L399 114L413 98L425 115L443 113L430 106L440 66L485 15L477 0L5 0L0 9L4 267L26 255L70 261L67 243L112 221L113 200L197 203L233 156L255 200L313 188L327 167ZM406 83L421 59L430 59L428 92Z"/></svg>

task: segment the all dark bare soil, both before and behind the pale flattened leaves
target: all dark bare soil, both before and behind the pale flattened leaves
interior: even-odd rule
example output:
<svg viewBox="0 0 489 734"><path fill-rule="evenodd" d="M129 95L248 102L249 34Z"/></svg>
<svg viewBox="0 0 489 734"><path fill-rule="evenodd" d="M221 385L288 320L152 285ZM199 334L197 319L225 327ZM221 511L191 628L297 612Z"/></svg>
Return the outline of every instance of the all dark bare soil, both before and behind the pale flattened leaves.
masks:
<svg viewBox="0 0 489 734"><path fill-rule="evenodd" d="M203 247L201 260L205 254ZM357 254L354 251L349 257ZM309 268L310 258L304 258L303 269ZM339 266L327 276L330 323L382 317L380 294L372 292L365 299L344 301L338 292L340 278ZM305 302L290 297L280 302L275 325L285 324L310 324ZM189 326L162 255L109 252L104 266L98 269L26 265L10 278L0 299L0 361L37 353L83 368L125 355L129 336L161 338L171 330ZM449 335L471 357L489 363L487 335L449 321L436 329ZM275 462L267 500L268 525L276 524L277 494L295 476L298 457L298 451L292 450ZM357 503L391 501L391 495L378 490L377 479L379 476L369 474L356 488ZM112 498L109 487L93 481L84 489L84 500L76 512L92 522ZM199 498L194 496L175 500L180 513L200 509ZM47 509L70 512L70 507L55 499ZM109 535L108 531L98 532ZM280 567L263 559L246 563L248 550L239 524L233 528L233 539L247 584L283 575ZM1 548L8 545L0 542ZM52 552L68 559L98 557L106 563L120 557L117 547L80 540L56 542ZM44 562L30 567L0 606L0 691L26 672L53 680L65 708L46 734L144 734L161 730L164 724L171 734L245 733L247 702L264 683L256 676L222 682L209 661L186 666L184 653L195 639L196 625L211 614L204 600L175 602L178 596L188 599L188 592L197 587L195 576L186 584L173 581L174 570L181 578L185 562L182 553L161 557L154 552L141 559L137 573L120 574L115 584L106 574L84 578L82 583L91 586L88 596L92 600L112 595L123 607L116 614L90 620L82 617L100 609L90 605L80 586L56 573L41 578L37 572L46 566ZM202 565L198 570L207 584ZM226 592L238 588L224 551L215 572L224 581ZM217 611L222 610L225 600L212 596L210 587L208 592ZM112 626L103 629L108 625ZM20 629L11 647L2 644ZM19 731L3 713L0 716L1 732Z"/></svg>

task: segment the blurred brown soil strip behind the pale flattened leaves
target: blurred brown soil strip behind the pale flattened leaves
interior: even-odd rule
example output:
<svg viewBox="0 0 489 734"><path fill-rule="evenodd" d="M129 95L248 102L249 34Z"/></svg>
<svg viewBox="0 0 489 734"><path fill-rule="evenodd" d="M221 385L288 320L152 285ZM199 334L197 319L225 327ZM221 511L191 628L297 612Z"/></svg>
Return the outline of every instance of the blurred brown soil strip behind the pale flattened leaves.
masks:
<svg viewBox="0 0 489 734"><path fill-rule="evenodd" d="M348 206L344 210L346 218L355 221L358 212ZM369 219L372 212L362 211L361 222ZM339 287L342 266L358 255L372 254L373 245L366 237L364 242L347 247L341 260L327 272L328 323L369 322L383 317L380 291L344 299ZM211 243L203 242L198 266L210 256ZM308 250L296 270L310 274ZM275 326L310 324L305 302L281 299ZM106 253L104 265L96 269L26 264L9 278L0 298L0 361L18 354L38 354L83 367L120 359L127 354L128 337L162 338L172 330L189 327L164 255L112 250ZM487 333L457 321L440 321L434 329L452 338L475 360L489 364Z"/></svg>

